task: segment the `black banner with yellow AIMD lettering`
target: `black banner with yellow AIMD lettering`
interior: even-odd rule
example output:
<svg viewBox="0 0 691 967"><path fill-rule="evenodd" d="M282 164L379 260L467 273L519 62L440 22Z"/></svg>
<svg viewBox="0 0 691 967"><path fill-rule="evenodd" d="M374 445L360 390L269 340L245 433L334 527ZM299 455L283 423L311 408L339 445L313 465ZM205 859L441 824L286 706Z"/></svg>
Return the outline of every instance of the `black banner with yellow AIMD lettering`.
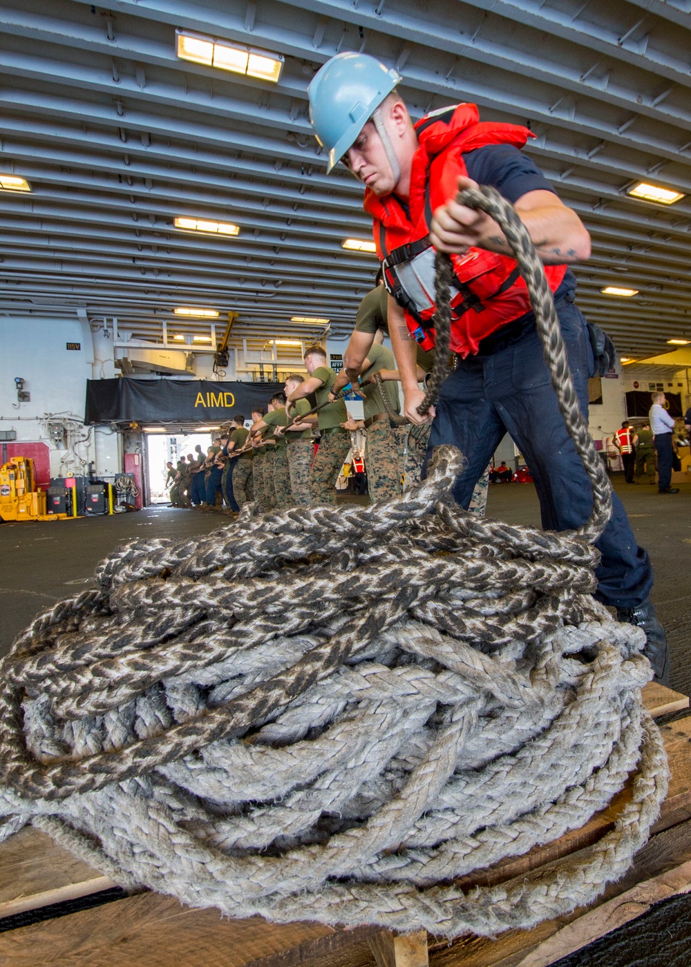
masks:
<svg viewBox="0 0 691 967"><path fill-rule="evenodd" d="M89 379L84 423L225 423L264 411L283 383L212 383L205 379Z"/></svg>

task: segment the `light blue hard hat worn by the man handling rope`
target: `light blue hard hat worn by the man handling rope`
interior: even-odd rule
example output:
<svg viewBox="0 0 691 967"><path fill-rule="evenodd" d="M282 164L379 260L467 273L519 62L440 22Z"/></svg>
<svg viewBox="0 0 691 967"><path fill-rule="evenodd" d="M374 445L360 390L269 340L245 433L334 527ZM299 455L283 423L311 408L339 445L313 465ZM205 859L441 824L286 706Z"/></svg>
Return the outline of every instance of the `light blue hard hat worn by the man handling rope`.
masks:
<svg viewBox="0 0 691 967"><path fill-rule="evenodd" d="M310 123L329 153L331 171L355 141L379 104L391 94L401 74L376 57L345 51L327 61L307 89Z"/></svg>

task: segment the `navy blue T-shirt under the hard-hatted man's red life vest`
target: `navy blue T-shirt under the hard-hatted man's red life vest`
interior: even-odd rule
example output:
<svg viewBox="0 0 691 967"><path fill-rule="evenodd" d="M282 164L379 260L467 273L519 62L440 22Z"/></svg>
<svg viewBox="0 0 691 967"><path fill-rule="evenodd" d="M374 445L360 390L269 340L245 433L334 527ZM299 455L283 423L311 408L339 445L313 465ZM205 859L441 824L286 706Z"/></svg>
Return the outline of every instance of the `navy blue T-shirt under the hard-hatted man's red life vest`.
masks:
<svg viewBox="0 0 691 967"><path fill-rule="evenodd" d="M515 204L528 191L556 191L530 159L511 144L490 144L485 148L468 151L467 176L478 185L491 185L499 194ZM555 292L555 299L563 298L576 290L576 277L570 269L562 278Z"/></svg>

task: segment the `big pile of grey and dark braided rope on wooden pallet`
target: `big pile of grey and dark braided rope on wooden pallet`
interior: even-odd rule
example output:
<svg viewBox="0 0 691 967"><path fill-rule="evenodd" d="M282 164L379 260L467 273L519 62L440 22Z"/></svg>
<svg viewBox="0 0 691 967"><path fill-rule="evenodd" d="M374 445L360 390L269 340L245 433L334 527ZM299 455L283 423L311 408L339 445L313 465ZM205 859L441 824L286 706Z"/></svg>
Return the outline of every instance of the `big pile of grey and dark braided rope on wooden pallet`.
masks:
<svg viewBox="0 0 691 967"><path fill-rule="evenodd" d="M2 835L33 823L124 886L233 917L447 936L538 923L624 872L668 778L645 639L591 597L609 484L544 274L497 198L464 200L516 247L590 519L553 534L468 515L443 447L392 503L116 550L2 663ZM582 826L633 770L589 849L455 884Z"/></svg>

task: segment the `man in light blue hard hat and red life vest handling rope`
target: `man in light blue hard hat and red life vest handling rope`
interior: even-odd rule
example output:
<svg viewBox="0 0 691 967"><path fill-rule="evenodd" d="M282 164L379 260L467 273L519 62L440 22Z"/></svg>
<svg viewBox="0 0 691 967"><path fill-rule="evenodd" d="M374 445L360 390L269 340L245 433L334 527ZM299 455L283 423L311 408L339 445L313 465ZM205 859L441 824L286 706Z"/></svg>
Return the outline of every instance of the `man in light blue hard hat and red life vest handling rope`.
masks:
<svg viewBox="0 0 691 967"><path fill-rule="evenodd" d="M439 444L453 444L466 456L453 488L462 507L508 431L528 458L543 527L579 527L592 507L591 488L558 409L525 283L496 222L460 204L457 192L492 186L524 221L545 264L584 413L587 377L596 368L606 371L614 356L614 347L608 349L575 304L569 264L589 257L586 226L521 151L534 136L527 128L483 122L470 103L442 107L413 126L396 92L400 79L368 54L343 53L315 74L309 96L310 120L328 151L329 170L345 161L366 186L364 207L373 216L389 293L388 329L404 413L411 424L434 418L428 455ZM417 382L416 345L407 334L423 348L423 339L434 339L438 250L451 254L456 276L456 367L436 410L420 416L425 394ZM619 620L645 630L646 656L666 684L669 647L649 598L650 560L616 495L596 546L602 555L597 597L616 607Z"/></svg>

